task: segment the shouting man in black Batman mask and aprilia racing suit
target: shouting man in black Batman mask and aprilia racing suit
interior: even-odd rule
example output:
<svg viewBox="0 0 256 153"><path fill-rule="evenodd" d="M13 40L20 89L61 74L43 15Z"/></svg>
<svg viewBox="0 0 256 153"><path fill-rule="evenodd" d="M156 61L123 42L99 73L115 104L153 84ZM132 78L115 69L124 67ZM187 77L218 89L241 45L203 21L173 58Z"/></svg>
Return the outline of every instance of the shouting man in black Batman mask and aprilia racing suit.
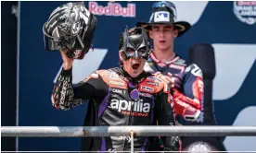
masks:
<svg viewBox="0 0 256 153"><path fill-rule="evenodd" d="M58 27L58 22L53 24ZM48 26L53 27L50 23ZM86 43L86 39L83 43ZM160 125L174 125L170 88L157 76L144 71L151 51L145 29L126 28L120 39L119 50L119 67L97 70L80 83L72 85L74 58L67 55L72 51L65 46L61 48L63 65L52 92L52 105L59 110L70 110L89 102L84 126L151 125L154 119ZM134 151L147 151L149 138L135 136ZM82 151L129 151L130 140L130 136L83 137ZM171 137L162 137L162 140L164 150L173 150Z"/></svg>

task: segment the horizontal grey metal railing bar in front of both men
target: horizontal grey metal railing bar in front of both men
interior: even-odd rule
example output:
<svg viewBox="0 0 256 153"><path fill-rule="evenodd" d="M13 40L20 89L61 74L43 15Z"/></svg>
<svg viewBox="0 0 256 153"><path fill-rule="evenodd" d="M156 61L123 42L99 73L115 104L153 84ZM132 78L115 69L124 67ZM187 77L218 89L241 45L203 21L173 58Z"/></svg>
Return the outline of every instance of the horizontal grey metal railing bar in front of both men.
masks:
<svg viewBox="0 0 256 153"><path fill-rule="evenodd" d="M256 136L256 126L2 126L2 136Z"/></svg>

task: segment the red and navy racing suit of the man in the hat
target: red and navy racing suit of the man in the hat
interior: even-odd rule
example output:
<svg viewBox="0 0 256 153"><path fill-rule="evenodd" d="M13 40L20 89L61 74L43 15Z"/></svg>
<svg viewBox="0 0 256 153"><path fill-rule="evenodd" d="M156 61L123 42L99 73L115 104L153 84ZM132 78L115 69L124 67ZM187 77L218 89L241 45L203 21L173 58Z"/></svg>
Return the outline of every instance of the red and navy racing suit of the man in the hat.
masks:
<svg viewBox="0 0 256 153"><path fill-rule="evenodd" d="M168 63L161 63L152 52L144 69L149 73L173 74L173 111L178 124L203 123L205 116L201 111L206 107L203 106L204 84L201 70L197 65L187 65L178 55Z"/></svg>

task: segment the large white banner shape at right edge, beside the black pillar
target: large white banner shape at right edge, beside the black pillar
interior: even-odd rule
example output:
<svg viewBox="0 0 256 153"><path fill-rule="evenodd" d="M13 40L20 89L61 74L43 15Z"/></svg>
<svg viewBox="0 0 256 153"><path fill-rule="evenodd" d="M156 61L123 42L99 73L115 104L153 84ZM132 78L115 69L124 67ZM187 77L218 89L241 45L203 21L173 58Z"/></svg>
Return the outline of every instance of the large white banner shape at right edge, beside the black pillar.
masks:
<svg viewBox="0 0 256 153"><path fill-rule="evenodd" d="M248 76L256 60L256 45L215 43L212 46L216 60L213 100L227 100L237 93Z"/></svg>

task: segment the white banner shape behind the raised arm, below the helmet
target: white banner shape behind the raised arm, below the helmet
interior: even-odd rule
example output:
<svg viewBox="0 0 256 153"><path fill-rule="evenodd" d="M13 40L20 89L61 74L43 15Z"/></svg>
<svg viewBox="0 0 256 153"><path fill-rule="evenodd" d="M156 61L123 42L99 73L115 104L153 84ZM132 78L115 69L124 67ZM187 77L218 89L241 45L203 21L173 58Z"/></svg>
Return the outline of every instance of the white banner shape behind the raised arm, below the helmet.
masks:
<svg viewBox="0 0 256 153"><path fill-rule="evenodd" d="M93 52L90 51L86 53L82 60L74 60L72 68L72 83L79 83L84 77L87 77L95 72L101 65L107 53L108 49L95 48ZM62 65L60 66L58 74L54 79L54 83L56 83L61 68Z"/></svg>

